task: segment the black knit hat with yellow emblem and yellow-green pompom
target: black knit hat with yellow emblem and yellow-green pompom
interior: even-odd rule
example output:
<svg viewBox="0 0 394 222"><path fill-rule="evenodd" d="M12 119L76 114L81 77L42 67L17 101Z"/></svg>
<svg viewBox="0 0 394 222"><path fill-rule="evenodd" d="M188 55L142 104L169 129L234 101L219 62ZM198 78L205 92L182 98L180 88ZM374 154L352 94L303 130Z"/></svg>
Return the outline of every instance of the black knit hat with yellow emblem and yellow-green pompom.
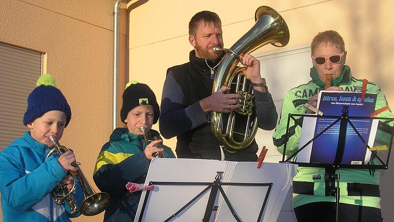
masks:
<svg viewBox="0 0 394 222"><path fill-rule="evenodd" d="M121 108L121 120L126 123L130 110L139 105L151 105L154 111L153 124L159 120L160 108L152 89L144 83L132 81L127 83L123 92L123 105Z"/></svg>

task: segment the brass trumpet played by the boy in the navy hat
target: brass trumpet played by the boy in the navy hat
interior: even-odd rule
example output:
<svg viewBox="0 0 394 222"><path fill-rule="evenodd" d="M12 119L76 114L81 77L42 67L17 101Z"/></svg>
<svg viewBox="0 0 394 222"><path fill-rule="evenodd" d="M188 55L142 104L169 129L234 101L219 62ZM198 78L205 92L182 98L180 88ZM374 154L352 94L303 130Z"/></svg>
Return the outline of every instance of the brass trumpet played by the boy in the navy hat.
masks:
<svg viewBox="0 0 394 222"><path fill-rule="evenodd" d="M51 156L53 153L57 153L59 156L64 154L65 152L69 151L66 146L57 145L55 137L50 136L49 140L53 143L54 148L49 151L46 158ZM75 176L73 172L68 171L68 175L71 175L73 178L73 185L72 188L69 190L67 189L66 184L59 182L57 186L52 190L51 194L55 199L57 205L63 205L66 201L66 204L70 207L70 213L75 215L78 212L81 212L83 215L86 216L93 216L103 212L110 204L111 197L108 193L100 192L96 193L90 186L88 180L86 179L85 175L82 173L80 168L81 163L76 162L72 164L73 167L78 169L78 173ZM78 180L77 180L78 178ZM85 195L85 199L81 205L78 205L72 193L76 189L77 181L81 183L82 190Z"/></svg>

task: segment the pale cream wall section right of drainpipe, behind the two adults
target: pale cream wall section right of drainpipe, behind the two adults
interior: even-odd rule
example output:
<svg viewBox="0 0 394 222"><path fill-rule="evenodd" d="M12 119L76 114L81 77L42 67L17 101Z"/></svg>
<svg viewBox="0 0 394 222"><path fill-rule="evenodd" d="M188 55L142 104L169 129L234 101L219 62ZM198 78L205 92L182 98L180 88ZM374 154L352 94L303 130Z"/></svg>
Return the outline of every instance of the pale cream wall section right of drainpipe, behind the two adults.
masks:
<svg viewBox="0 0 394 222"><path fill-rule="evenodd" d="M166 70L173 65L188 62L192 49L188 42L188 22L198 11L210 10L222 19L225 47L231 47L254 25L254 12L266 4L277 10L290 30L286 47L308 44L320 31L337 30L346 43L347 65L353 76L366 78L381 86L387 101L394 106L394 2L390 0L279 0L279 1L182 1L150 0L130 10L129 22L129 78L147 83L161 100ZM275 50L265 46L254 54ZM286 64L284 64L286 65ZM294 73L294 78L308 73ZM264 77L264 73L263 73ZM283 81L291 81L283 79ZM156 126L154 128L158 128ZM176 140L164 141L175 147ZM383 172L384 178L394 178L394 170ZM383 177L382 177L383 178ZM394 179L391 179L394 182ZM382 183L383 215L394 217L387 206L394 192L391 182Z"/></svg>

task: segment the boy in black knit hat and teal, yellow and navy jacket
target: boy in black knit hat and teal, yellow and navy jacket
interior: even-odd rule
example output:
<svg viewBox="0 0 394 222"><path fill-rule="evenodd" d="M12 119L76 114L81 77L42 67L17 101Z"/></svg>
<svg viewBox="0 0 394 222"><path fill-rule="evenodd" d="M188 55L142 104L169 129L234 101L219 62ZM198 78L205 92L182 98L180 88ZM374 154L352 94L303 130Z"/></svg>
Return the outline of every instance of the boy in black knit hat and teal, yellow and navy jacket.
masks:
<svg viewBox="0 0 394 222"><path fill-rule="evenodd" d="M171 149L161 144L157 131L151 130L159 119L159 104L148 85L132 82L123 93L121 120L125 128L116 128L97 157L93 179L97 187L111 195L111 204L105 211L104 221L133 221L142 191L130 193L128 182L144 183L153 154L163 152L174 158ZM148 140L146 144L141 127ZM156 136L157 140L153 139Z"/></svg>

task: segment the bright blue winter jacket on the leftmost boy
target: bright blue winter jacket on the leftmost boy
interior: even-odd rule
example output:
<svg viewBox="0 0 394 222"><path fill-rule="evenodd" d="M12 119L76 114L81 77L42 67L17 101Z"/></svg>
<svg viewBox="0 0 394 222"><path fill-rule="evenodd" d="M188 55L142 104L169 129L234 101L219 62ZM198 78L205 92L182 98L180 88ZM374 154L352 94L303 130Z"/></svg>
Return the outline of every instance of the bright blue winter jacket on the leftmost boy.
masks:
<svg viewBox="0 0 394 222"><path fill-rule="evenodd" d="M67 205L56 205L52 189L66 176L49 153L48 146L35 141L29 132L16 139L0 152L0 193L3 221L70 221ZM75 194L76 193L76 194ZM83 193L78 186L74 193L82 202Z"/></svg>

